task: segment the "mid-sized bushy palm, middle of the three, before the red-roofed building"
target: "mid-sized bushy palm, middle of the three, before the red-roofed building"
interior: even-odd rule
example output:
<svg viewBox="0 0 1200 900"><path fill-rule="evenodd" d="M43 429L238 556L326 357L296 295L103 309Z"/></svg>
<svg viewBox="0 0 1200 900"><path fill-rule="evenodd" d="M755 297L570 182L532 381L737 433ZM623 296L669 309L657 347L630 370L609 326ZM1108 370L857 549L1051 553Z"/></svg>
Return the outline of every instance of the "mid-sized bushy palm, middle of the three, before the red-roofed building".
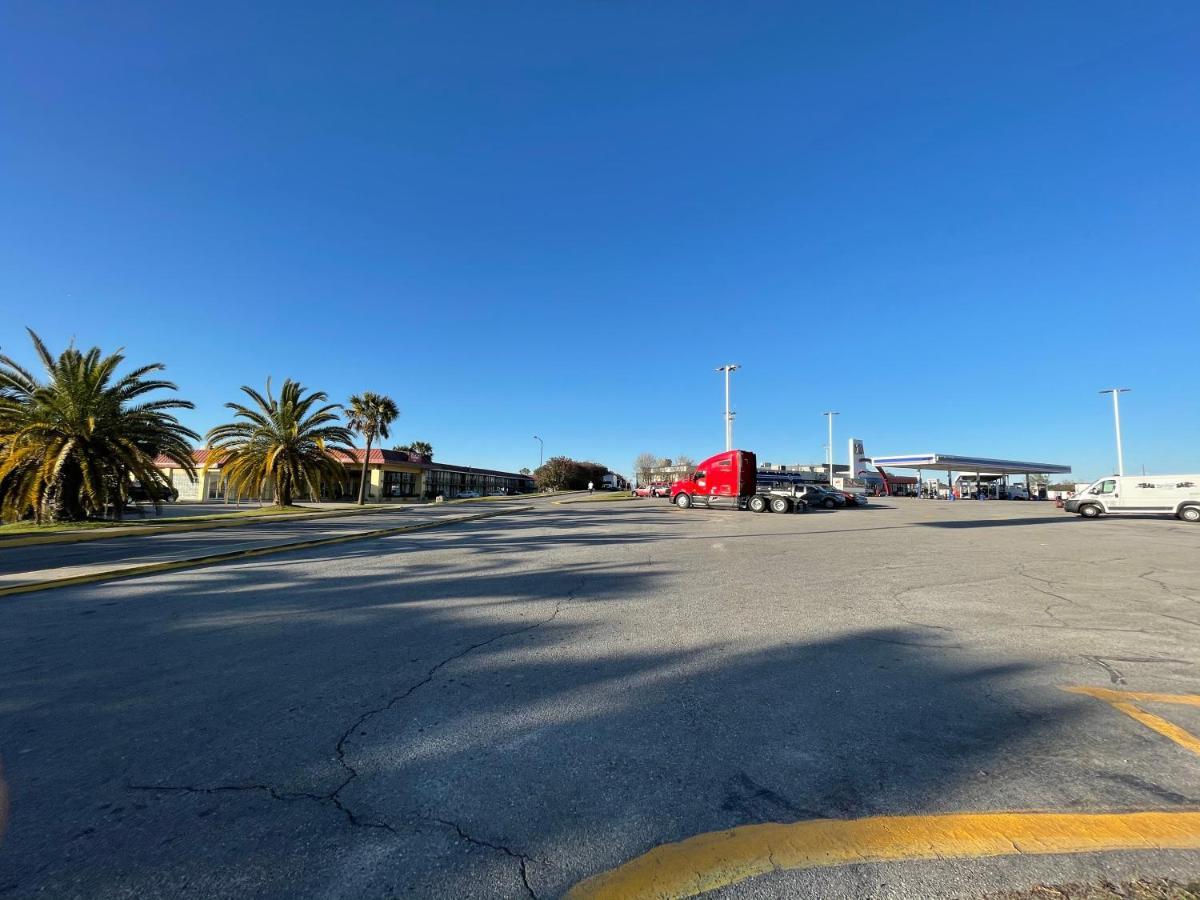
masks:
<svg viewBox="0 0 1200 900"><path fill-rule="evenodd" d="M239 496L260 494L271 485L276 506L290 506L301 490L319 497L323 484L341 484L346 468L340 455L350 451L350 432L337 425L337 403L324 403L324 391L305 394L304 385L283 382L278 400L266 379L266 396L241 389L254 403L226 403L242 421L218 425L208 434L209 460L220 462L221 480ZM316 407L316 408L314 408Z"/></svg>

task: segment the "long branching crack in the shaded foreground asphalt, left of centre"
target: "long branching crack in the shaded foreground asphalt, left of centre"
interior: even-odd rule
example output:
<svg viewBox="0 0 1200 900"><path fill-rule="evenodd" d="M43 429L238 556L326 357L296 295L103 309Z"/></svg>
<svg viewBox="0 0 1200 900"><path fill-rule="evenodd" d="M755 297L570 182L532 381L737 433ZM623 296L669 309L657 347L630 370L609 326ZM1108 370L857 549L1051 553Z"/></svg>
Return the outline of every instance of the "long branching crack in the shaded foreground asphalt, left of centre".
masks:
<svg viewBox="0 0 1200 900"><path fill-rule="evenodd" d="M437 677L438 672L442 671L443 668L445 668L446 666L449 666L451 662L455 662L455 661L462 659L463 656L466 656L466 655L468 655L468 654L470 654L470 653L480 649L481 647L487 647L488 644L496 643L497 641L502 641L505 637L514 637L516 635L522 635L522 634L533 631L535 629L539 629L542 625L550 624L556 618L558 618L558 614L563 610L563 605L565 602L575 600L577 593L581 589L582 589L582 582L580 584L577 584L575 588L572 588L570 592L568 592L568 595L566 595L565 600L559 599L559 600L554 601L554 610L553 610L553 612L550 613L550 616L546 616L545 618L538 619L533 624L522 625L521 628L510 629L508 631L502 631L502 632L499 632L497 635L493 635L492 637L488 637L486 641L479 641L476 643L473 643L473 644L470 644L470 646L468 646L468 647L466 647L466 648L463 648L463 649L461 649L461 650L458 650L458 652L456 652L456 653L446 656L445 659L440 660L436 665L431 666L426 671L425 676L421 677L419 680L414 682L413 684L408 685L408 688L406 688L403 691L401 691L400 694L397 694L394 697L389 698L386 703L384 703L384 704L382 704L379 707L376 707L374 709L368 709L367 712L362 713L358 719L354 720L353 725L350 725L346 731L342 732L342 736L337 740L337 744L335 746L335 751L337 754L337 763L347 773L347 776L342 780L342 782L336 788L334 788L329 793L322 794L322 793L312 793L312 792L307 792L307 791L281 791L280 788L277 788L277 787L275 787L272 785L266 785L266 784L212 785L212 786L203 786L203 785L142 785L142 784L128 784L128 785L126 785L126 790L130 790L130 791L157 792L157 793L198 793L198 794L263 792L263 793L268 794L274 800L283 800L283 802L311 800L313 803L318 803L318 804L322 804L322 805L331 805L331 806L341 810L341 812L346 816L347 821L353 827L355 827L355 828L374 828L374 829L385 830L385 832L389 832L391 834L397 834L398 835L402 832L400 829L397 829L395 826L392 826L391 823L383 822L383 821L370 821L370 820L361 818L358 814L354 812L353 809L350 809L347 804L344 804L341 800L341 798L338 797L338 794L341 794L341 792L344 791L359 776L359 770L356 768L354 768L346 760L347 744L349 743L350 736L354 733L355 730L361 728L367 721L370 721L374 716L379 715L380 713L385 713L386 710L389 710L392 707L395 707L397 703L400 703L400 702L407 700L408 697L413 696L413 694L415 694L418 690L420 690L425 685L430 684ZM500 844L492 844L490 841L481 840L479 838L474 838L474 836L472 836L470 834L466 833L462 828L460 828L457 824L455 824L454 822L451 822L449 820L442 820L442 818L428 817L428 816L425 816L425 818L427 818L428 821L432 821L432 822L437 822L438 824L444 826L446 828L452 828L457 833L457 835L462 840L464 840L464 841L479 845L481 847L490 847L491 850L494 850L494 851L500 852L500 853L505 853L506 856L512 857L514 859L516 859L518 862L518 864L520 864L521 881L524 884L526 890L528 892L529 896L533 898L533 900L538 900L538 895L536 895L536 893L534 892L533 887L529 883L529 874L528 874L528 865L529 865L529 860L530 860L529 856L527 856L524 853L520 853L517 851L514 851L514 850L511 850L511 848L509 848L509 847L506 847L504 845L500 845ZM414 833L419 833L419 829L413 829L413 832Z"/></svg>

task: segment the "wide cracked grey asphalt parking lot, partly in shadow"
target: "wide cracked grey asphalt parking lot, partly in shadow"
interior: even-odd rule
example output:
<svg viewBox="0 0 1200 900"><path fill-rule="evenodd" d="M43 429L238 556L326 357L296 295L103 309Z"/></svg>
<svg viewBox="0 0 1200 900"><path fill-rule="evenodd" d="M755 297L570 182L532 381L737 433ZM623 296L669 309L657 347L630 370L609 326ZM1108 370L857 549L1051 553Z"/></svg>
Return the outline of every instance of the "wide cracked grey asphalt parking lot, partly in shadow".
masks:
<svg viewBox="0 0 1200 900"><path fill-rule="evenodd" d="M671 866L720 898L1196 878L1195 826L1172 823L1200 809L1200 706L1178 700L1200 696L1198 551L1200 527L1038 503L540 502L11 596L0 896L664 896ZM1139 850L1002 832L983 852L997 814L1165 815ZM754 829L880 817L934 858L822 844L834 863L800 865L828 828Z"/></svg>

